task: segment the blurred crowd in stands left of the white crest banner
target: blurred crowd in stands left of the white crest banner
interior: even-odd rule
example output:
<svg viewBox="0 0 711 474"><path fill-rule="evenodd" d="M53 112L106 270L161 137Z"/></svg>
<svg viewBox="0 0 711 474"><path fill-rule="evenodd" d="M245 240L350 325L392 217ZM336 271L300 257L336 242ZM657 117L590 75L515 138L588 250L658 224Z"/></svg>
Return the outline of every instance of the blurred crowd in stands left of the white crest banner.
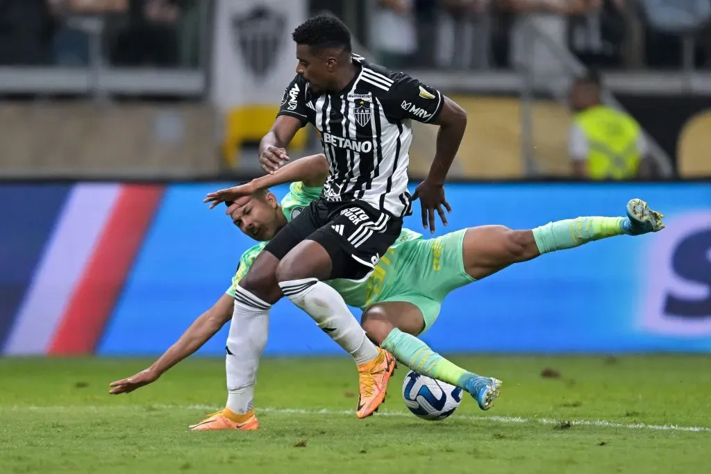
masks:
<svg viewBox="0 0 711 474"><path fill-rule="evenodd" d="M195 67L197 0L3 0L0 65Z"/></svg>

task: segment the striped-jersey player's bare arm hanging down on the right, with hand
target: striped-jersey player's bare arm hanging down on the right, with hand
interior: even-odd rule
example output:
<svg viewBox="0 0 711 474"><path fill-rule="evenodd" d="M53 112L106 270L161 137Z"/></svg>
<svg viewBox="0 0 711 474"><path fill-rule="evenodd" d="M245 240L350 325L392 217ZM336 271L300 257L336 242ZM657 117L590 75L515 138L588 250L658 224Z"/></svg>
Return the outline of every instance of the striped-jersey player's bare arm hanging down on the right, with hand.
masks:
<svg viewBox="0 0 711 474"><path fill-rule="evenodd" d="M434 211L437 210L442 223L447 225L447 215L444 214L444 208L451 212L451 207L444 198L444 180L447 178L451 163L454 161L456 152L459 150L459 144L464 137L466 129L466 112L459 107L459 104L442 96L444 104L442 112L439 113L437 119L432 122L439 125L437 132L437 151L434 155L434 161L429 168L427 178L420 183L415 189L414 199L419 199L422 208L422 226L430 232L434 232Z"/></svg>

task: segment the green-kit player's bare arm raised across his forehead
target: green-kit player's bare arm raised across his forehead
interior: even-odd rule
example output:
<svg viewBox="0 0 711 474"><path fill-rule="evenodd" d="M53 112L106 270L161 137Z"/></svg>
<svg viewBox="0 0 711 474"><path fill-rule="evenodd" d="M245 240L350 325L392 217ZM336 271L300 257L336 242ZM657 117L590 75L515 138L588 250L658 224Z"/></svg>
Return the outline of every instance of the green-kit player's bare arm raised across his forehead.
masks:
<svg viewBox="0 0 711 474"><path fill-rule="evenodd" d="M214 193L208 193L203 203L210 203L210 209L225 201L235 201L239 198L252 195L258 190L272 188L280 184L295 183L303 181L306 185L317 187L323 185L328 176L328 160L323 153L317 155L304 156L292 161L283 168L279 168L272 174L253 179L249 183L232 186L232 188L220 189ZM230 214L233 208L230 206L225 214Z"/></svg>

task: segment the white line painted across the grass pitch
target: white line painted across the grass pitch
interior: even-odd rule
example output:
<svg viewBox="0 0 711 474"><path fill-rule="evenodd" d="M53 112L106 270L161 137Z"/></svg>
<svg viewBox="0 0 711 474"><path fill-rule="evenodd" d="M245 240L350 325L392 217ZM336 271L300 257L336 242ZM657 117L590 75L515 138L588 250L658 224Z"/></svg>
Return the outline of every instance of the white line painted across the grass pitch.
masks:
<svg viewBox="0 0 711 474"><path fill-rule="evenodd" d="M0 413L4 410L12 411L111 411L111 410L127 410L127 411L151 411L151 410L200 410L205 412L217 411L221 407L213 405L166 405L166 404L149 404L149 405L105 405L105 406L12 406L6 409L0 407ZM292 414L292 415L312 415L312 416L353 416L353 410L332 410L332 409L301 409L301 408L262 408L257 409L257 414L273 413L273 414ZM395 416L395 417L414 417L407 411L384 411L383 413L375 414L378 416ZM522 418L520 416L476 416L476 415L459 415L456 416L459 420L469 421L488 421L490 423L499 424L542 424L542 425L557 425L561 424L563 419L551 418ZM657 430L657 431L691 431L696 433L711 433L711 427L708 426L679 426L677 424L651 425L645 423L617 423L606 420L565 420L572 426L597 426L600 428L616 428L616 429L641 429L641 430Z"/></svg>

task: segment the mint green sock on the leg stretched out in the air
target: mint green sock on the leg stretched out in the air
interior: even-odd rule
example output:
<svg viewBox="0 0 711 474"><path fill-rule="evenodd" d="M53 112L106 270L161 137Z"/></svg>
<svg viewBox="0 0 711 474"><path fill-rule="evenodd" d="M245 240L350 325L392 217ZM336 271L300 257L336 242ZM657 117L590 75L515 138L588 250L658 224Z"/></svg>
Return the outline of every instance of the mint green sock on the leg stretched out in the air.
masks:
<svg viewBox="0 0 711 474"><path fill-rule="evenodd" d="M577 217L548 222L533 229L533 238L541 254L572 249L594 240L624 235L626 217Z"/></svg>

